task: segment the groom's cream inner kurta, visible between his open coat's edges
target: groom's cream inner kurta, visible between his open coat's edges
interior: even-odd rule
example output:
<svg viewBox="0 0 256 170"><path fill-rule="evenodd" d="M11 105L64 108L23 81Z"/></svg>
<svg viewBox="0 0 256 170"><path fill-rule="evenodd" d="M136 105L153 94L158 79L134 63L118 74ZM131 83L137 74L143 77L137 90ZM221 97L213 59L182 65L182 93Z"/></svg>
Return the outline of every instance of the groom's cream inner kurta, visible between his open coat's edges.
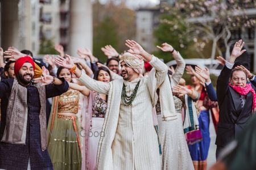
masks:
<svg viewBox="0 0 256 170"><path fill-rule="evenodd" d="M131 95L139 78L125 82ZM147 78L142 78L132 106L121 102L113 150L114 169L159 169L158 138L152 121Z"/></svg>

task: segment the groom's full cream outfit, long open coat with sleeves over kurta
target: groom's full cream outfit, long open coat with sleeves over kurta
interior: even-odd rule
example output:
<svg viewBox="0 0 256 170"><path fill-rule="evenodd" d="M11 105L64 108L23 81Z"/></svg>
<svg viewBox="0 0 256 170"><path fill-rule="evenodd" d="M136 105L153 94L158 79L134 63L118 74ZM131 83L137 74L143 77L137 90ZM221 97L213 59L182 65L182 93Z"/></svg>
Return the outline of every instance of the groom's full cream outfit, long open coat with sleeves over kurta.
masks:
<svg viewBox="0 0 256 170"><path fill-rule="evenodd" d="M160 169L158 139L152 121L153 96L150 91L156 91L162 84L168 69L158 58L153 57L150 63L156 73L133 82L122 79L110 83L98 82L84 72L79 78L90 90L108 94L108 109L102 127L104 137L101 137L98 145L98 169ZM139 79L141 83L132 106L123 105L123 82L130 95ZM155 87L149 86L148 79L156 79Z"/></svg>

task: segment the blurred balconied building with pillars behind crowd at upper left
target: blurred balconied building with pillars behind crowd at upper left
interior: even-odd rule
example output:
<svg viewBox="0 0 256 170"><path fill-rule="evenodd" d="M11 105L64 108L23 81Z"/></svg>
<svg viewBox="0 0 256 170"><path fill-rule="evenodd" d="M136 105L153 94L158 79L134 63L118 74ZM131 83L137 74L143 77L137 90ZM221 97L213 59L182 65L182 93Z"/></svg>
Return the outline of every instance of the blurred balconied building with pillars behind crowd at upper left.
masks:
<svg viewBox="0 0 256 170"><path fill-rule="evenodd" d="M92 49L92 2L90 0L2 0L0 2L0 45L39 51L42 39L64 46ZM79 30L80 29L80 30Z"/></svg>

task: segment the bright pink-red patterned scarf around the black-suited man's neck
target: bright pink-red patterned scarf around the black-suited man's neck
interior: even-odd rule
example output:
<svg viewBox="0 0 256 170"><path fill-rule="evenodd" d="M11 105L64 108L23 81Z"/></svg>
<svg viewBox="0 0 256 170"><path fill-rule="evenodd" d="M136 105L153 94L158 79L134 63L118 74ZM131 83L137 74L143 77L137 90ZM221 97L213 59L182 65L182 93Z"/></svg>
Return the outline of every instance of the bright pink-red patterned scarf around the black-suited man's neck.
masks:
<svg viewBox="0 0 256 170"><path fill-rule="evenodd" d="M253 112L254 112L254 108L256 108L256 93L255 93L253 87L251 87L251 84L246 84L245 87L240 87L240 86L233 86L229 83L229 86L232 87L240 95L245 96L249 92L251 92L253 94Z"/></svg>

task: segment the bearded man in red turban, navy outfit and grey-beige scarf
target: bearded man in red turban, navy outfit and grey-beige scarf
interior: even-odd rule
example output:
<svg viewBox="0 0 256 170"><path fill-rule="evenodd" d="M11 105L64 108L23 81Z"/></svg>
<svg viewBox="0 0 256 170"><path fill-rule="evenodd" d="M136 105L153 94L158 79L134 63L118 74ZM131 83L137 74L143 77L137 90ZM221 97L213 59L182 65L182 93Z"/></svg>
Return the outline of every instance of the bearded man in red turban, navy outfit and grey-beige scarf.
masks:
<svg viewBox="0 0 256 170"><path fill-rule="evenodd" d="M32 58L21 57L14 65L16 78L0 82L0 169L53 169L46 148L46 99L69 86L50 75L33 81L34 71Z"/></svg>

